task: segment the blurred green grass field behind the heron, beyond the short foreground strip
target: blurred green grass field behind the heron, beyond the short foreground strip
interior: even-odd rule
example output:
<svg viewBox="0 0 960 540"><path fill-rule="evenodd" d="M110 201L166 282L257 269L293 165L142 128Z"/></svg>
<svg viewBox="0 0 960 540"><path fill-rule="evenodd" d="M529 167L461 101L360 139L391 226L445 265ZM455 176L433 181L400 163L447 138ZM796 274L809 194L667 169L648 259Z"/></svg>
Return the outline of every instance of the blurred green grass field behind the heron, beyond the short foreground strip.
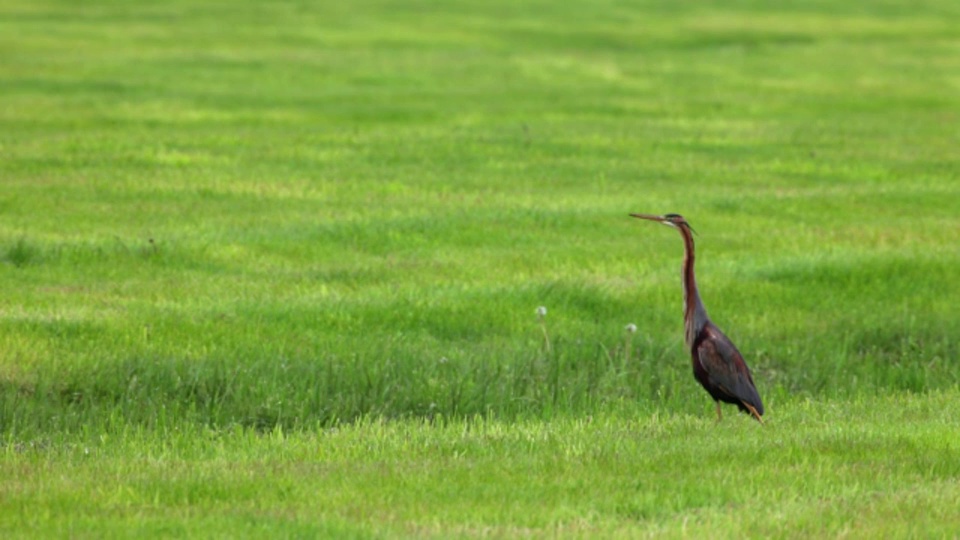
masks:
<svg viewBox="0 0 960 540"><path fill-rule="evenodd" d="M772 415L956 387L958 15L6 2L0 424L701 414L631 211Z"/></svg>

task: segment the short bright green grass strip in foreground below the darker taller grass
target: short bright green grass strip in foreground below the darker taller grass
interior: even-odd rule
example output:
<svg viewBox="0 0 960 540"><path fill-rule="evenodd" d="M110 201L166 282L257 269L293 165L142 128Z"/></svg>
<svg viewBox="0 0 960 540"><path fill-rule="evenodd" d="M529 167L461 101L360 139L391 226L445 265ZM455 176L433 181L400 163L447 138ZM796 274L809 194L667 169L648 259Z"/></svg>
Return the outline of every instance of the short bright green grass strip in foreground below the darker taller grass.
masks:
<svg viewBox="0 0 960 540"><path fill-rule="evenodd" d="M631 405L294 433L123 425L8 445L0 531L948 537L958 397L797 400L764 428Z"/></svg>

